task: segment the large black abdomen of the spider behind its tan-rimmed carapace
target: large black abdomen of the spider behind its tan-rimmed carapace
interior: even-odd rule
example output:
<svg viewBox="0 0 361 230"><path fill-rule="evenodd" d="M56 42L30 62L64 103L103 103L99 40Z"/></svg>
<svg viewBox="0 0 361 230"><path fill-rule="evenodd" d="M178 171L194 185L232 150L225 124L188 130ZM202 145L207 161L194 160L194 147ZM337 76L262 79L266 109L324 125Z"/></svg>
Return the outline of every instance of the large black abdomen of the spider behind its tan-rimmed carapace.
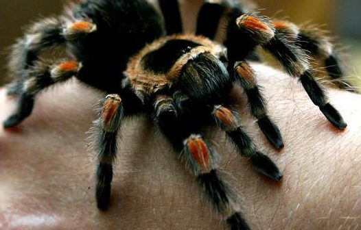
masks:
<svg viewBox="0 0 361 230"><path fill-rule="evenodd" d="M165 34L161 15L145 0L82 1L68 14L70 19L85 18L97 27L84 38L70 41L68 47L84 64L78 78L106 92L119 92L129 58Z"/></svg>

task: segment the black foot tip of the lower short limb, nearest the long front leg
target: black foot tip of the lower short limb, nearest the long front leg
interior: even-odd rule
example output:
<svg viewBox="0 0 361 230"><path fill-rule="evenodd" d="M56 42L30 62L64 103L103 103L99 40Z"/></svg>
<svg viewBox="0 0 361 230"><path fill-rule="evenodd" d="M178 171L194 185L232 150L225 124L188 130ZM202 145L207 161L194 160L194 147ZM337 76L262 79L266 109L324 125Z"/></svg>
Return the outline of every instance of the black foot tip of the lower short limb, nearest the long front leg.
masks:
<svg viewBox="0 0 361 230"><path fill-rule="evenodd" d="M270 157L264 155L263 153L257 152L255 155L250 157L250 159L253 167L266 177L270 177L270 179L274 181L279 181L283 177L277 165L272 162Z"/></svg>

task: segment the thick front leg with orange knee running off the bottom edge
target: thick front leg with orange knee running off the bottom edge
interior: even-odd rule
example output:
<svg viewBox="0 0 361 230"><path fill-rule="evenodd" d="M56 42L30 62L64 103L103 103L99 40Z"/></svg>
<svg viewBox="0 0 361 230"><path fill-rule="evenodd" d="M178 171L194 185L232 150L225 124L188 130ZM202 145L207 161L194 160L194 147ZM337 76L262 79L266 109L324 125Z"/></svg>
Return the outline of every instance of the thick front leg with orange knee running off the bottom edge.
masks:
<svg viewBox="0 0 361 230"><path fill-rule="evenodd" d="M176 97L183 100L181 94ZM196 124L187 125L188 120L180 115L176 104L172 97L157 96L154 102L155 123L180 151L181 161L196 177L213 207L226 217L231 229L250 229L238 210L237 194L219 175L218 153L202 137Z"/></svg>

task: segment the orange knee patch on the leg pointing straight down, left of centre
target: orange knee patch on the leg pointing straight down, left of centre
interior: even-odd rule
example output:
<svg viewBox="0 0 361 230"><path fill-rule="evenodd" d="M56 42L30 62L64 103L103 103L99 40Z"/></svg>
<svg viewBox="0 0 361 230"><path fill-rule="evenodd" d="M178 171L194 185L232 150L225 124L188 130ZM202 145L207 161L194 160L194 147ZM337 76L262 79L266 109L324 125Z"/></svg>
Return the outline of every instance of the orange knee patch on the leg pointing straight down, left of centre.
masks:
<svg viewBox="0 0 361 230"><path fill-rule="evenodd" d="M121 99L117 94L110 94L106 97L102 108L102 121L104 129L108 129L110 122L116 116L117 108L121 103Z"/></svg>

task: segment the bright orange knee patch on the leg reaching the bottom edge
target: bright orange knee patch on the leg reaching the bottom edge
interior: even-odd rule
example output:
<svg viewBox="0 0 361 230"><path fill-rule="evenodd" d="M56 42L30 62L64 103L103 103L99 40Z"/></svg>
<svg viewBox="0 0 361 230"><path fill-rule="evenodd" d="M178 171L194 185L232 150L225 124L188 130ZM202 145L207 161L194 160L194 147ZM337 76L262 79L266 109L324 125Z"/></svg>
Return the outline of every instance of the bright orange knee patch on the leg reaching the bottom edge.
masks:
<svg viewBox="0 0 361 230"><path fill-rule="evenodd" d="M187 140L187 147L197 164L202 168L208 168L209 149L205 141L200 136L192 134Z"/></svg>

